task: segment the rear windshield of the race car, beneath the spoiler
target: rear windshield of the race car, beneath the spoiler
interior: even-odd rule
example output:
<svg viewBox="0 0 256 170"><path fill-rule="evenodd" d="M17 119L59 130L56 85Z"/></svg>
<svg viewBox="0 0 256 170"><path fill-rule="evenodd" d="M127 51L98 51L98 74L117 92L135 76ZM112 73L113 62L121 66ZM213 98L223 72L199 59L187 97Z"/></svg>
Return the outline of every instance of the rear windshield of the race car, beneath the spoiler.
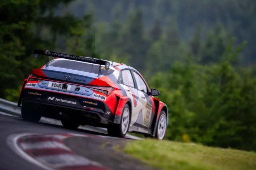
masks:
<svg viewBox="0 0 256 170"><path fill-rule="evenodd" d="M84 72L95 73L95 74L98 74L98 68L99 68L99 65L76 62L72 60L53 60L49 62L49 66L67 68L67 69L84 71ZM105 66L101 66L101 70L100 70L101 75L108 75L108 74L111 74L112 72L113 70L111 70L110 68L108 70L105 70Z"/></svg>

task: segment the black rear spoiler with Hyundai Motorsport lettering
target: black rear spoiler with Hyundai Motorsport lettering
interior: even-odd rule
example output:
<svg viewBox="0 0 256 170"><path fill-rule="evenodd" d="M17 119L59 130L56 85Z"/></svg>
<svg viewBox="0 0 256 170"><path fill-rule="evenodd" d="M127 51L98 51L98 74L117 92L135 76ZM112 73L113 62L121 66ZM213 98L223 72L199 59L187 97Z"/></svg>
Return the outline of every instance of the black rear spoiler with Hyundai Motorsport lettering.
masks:
<svg viewBox="0 0 256 170"><path fill-rule="evenodd" d="M40 49L34 49L33 57L37 58L38 54L47 56L46 66L48 66L49 56L56 57L56 58L70 59L70 60L75 60L75 61L82 61L82 62L87 62L87 63L92 63L92 64L98 64L99 65L98 76L100 75L101 65L104 65L106 70L109 69L109 65L110 65L109 62L100 60L100 59L81 57L81 56L75 56L75 55L70 55L70 54L62 54L62 53L58 53L58 52L51 52L48 50L44 51L44 50L40 50Z"/></svg>

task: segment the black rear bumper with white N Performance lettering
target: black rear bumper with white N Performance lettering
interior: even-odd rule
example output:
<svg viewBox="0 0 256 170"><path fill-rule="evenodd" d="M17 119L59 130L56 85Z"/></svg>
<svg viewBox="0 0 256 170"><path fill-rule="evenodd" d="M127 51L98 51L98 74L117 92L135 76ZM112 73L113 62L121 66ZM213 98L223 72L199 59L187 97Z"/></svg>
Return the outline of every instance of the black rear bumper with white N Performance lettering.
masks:
<svg viewBox="0 0 256 170"><path fill-rule="evenodd" d="M20 97L22 105L25 103L39 105L38 109L43 110L41 112L43 117L58 119L59 116L56 114L63 112L72 118L86 118L87 121L91 118L91 120L98 120L101 124L114 122L114 115L102 101L33 89L24 89Z"/></svg>

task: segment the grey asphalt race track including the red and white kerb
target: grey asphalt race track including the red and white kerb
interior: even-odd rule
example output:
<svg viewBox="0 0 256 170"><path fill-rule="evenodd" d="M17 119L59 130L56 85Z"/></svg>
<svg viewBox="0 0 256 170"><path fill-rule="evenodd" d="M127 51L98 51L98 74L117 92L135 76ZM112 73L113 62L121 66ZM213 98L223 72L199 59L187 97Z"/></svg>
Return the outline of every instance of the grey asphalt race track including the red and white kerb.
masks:
<svg viewBox="0 0 256 170"><path fill-rule="evenodd" d="M151 170L116 150L129 141L0 114L0 170Z"/></svg>

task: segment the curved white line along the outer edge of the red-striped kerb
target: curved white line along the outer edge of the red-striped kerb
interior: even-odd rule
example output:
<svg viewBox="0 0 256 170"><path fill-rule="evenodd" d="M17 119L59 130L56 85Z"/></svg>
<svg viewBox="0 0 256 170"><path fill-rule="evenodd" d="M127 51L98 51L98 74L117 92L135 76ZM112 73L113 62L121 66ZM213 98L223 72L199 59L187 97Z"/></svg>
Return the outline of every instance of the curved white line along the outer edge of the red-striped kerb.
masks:
<svg viewBox="0 0 256 170"><path fill-rule="evenodd" d="M36 161L35 159L33 159L32 157L28 156L26 153L24 153L17 145L17 140L21 137L27 136L27 135L35 135L35 134L14 134L14 135L10 135L7 138L7 145L10 147L10 149L16 153L18 156L20 156L21 158L25 159L26 161L44 169L44 170L53 170L45 165L43 165L42 163Z"/></svg>

